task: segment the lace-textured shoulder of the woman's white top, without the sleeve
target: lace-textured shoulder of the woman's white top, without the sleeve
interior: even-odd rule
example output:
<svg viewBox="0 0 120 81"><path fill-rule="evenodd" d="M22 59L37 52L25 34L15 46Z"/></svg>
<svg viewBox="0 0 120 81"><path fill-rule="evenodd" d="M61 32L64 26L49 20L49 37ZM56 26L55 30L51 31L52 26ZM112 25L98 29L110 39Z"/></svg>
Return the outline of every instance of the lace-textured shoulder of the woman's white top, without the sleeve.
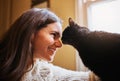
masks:
<svg viewBox="0 0 120 81"><path fill-rule="evenodd" d="M46 79L45 81L54 81L50 66L51 64L46 61L37 60L32 69L24 74L21 81L44 81L44 79Z"/></svg>

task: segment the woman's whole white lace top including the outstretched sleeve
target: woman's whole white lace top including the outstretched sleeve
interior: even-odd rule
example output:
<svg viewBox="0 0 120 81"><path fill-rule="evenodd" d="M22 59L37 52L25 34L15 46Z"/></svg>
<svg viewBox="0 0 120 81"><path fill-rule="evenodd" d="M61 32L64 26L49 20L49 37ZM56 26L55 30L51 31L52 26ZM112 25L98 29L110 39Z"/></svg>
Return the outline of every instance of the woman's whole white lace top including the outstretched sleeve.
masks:
<svg viewBox="0 0 120 81"><path fill-rule="evenodd" d="M89 81L89 72L76 72L36 60L32 70L21 81Z"/></svg>

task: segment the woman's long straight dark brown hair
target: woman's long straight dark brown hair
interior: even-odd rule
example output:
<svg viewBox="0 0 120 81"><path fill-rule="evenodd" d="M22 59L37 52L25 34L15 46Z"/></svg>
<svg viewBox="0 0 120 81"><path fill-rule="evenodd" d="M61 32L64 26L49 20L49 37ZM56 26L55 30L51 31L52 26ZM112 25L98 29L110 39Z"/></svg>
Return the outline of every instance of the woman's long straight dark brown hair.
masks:
<svg viewBox="0 0 120 81"><path fill-rule="evenodd" d="M48 9L32 8L24 12L0 41L0 81L20 81L32 62L31 36L50 23L60 22Z"/></svg>

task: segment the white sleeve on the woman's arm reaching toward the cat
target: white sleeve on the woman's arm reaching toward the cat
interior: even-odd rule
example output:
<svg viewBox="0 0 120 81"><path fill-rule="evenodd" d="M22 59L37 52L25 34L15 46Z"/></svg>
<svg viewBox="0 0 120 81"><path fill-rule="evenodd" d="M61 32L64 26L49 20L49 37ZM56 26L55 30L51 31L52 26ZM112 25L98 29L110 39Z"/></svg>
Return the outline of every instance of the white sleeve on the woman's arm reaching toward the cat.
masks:
<svg viewBox="0 0 120 81"><path fill-rule="evenodd" d="M54 65L52 65L52 71L56 81L89 81L89 71L72 71Z"/></svg>

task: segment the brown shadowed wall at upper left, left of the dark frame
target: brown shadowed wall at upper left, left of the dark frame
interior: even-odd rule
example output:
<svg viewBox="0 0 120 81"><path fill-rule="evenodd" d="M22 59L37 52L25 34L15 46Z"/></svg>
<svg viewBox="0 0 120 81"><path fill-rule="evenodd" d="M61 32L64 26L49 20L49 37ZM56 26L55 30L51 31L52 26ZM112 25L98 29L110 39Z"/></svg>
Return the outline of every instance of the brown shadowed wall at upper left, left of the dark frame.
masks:
<svg viewBox="0 0 120 81"><path fill-rule="evenodd" d="M30 5L30 0L0 0L0 38Z"/></svg>

